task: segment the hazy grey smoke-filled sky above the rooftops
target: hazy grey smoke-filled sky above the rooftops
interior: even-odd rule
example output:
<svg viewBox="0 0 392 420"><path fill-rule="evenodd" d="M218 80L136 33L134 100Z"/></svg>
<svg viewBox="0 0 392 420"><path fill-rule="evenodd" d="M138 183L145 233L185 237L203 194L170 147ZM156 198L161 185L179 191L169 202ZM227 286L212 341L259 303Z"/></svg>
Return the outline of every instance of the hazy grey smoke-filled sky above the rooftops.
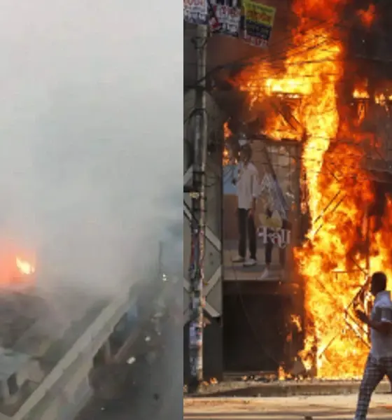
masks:
<svg viewBox="0 0 392 420"><path fill-rule="evenodd" d="M180 13L1 1L0 242L36 253L46 281L112 288L182 223Z"/></svg>

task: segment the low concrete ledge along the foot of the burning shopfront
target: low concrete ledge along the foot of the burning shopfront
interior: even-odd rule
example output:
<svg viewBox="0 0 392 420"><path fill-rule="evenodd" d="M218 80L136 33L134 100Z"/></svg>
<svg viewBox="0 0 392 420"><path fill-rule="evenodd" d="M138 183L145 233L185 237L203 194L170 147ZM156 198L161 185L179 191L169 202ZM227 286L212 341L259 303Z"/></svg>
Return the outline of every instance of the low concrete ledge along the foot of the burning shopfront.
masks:
<svg viewBox="0 0 392 420"><path fill-rule="evenodd" d="M184 398L202 397L288 397L295 395L349 395L358 393L360 381L224 381L203 386L197 394ZM376 393L391 393L391 384L382 381Z"/></svg>

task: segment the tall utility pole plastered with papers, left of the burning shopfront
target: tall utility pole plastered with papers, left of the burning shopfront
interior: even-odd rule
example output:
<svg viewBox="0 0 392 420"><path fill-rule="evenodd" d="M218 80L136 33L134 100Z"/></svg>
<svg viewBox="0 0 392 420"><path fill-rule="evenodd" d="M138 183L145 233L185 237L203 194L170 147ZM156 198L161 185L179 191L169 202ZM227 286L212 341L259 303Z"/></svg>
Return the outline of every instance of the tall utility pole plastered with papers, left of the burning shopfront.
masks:
<svg viewBox="0 0 392 420"><path fill-rule="evenodd" d="M206 230L206 164L207 164L207 109L206 68L208 26L197 25L195 47L197 75L195 98L195 139L193 162L193 188L190 256L190 324L189 361L190 381L188 391L195 392L203 381L203 283L204 248Z"/></svg>

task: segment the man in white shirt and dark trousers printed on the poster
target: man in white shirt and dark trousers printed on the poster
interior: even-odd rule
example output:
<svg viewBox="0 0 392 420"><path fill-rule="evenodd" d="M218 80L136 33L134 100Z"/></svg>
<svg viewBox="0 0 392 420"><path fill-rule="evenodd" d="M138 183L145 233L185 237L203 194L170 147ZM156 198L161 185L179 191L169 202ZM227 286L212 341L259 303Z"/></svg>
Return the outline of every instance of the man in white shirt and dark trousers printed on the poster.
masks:
<svg viewBox="0 0 392 420"><path fill-rule="evenodd" d="M258 170L251 162L252 149L249 144L241 147L239 153L237 181L237 205L238 205L238 228L239 244L238 257L233 262L243 262L244 267L252 267L256 264L256 229L255 209L256 200L260 190ZM249 258L246 260L246 239L249 243Z"/></svg>

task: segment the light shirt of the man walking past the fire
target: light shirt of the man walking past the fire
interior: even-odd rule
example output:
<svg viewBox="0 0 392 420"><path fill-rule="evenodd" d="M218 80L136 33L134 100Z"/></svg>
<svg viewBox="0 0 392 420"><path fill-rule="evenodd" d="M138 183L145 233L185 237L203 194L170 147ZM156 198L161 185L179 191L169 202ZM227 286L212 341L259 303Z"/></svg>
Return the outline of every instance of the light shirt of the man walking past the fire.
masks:
<svg viewBox="0 0 392 420"><path fill-rule="evenodd" d="M370 314L371 319L374 319L377 307L389 307L392 309L391 293L389 291L384 290L383 292L377 293L374 300L372 314ZM392 332L383 334L374 330L374 328L370 328L370 339L372 341L370 354L375 359L392 357Z"/></svg>

